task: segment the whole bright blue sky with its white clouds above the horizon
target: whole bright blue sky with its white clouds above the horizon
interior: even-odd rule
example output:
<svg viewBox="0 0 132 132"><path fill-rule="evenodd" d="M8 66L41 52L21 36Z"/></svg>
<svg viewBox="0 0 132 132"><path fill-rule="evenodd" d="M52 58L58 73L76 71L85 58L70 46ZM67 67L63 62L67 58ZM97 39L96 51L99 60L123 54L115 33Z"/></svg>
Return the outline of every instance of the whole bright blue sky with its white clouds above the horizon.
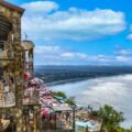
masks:
<svg viewBox="0 0 132 132"><path fill-rule="evenodd" d="M132 0L8 0L25 9L35 65L132 65Z"/></svg>

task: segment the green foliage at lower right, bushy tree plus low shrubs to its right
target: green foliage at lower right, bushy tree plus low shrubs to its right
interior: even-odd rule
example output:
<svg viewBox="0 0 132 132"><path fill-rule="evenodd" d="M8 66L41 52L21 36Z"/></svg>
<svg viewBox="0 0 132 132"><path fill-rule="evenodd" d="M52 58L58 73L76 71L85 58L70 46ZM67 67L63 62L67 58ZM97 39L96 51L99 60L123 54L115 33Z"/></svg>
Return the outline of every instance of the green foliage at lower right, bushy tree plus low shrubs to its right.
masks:
<svg viewBox="0 0 132 132"><path fill-rule="evenodd" d="M117 111L113 107L105 106L91 114L102 119L105 132L132 132L131 129L123 129L120 124L124 121L123 112Z"/></svg>

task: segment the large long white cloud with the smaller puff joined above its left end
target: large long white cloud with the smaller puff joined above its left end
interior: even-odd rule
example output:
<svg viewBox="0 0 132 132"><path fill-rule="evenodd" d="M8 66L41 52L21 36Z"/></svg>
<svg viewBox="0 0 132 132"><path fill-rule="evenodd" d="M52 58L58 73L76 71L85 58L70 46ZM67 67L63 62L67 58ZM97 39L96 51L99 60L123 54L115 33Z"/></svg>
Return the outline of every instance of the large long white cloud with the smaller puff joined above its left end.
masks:
<svg viewBox="0 0 132 132"><path fill-rule="evenodd" d="M22 7L26 9L22 21L23 32L36 40L88 41L113 35L125 29L124 14L120 11L77 8L62 11L52 1L24 3Z"/></svg>

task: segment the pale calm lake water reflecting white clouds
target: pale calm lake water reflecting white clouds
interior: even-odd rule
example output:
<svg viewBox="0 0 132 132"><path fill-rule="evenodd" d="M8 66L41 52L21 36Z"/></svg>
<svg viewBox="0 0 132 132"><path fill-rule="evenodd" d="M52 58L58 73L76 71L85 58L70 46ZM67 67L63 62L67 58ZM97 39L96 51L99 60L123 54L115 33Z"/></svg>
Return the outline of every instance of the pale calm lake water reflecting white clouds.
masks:
<svg viewBox="0 0 132 132"><path fill-rule="evenodd" d="M75 96L80 106L91 105L95 109L103 105L113 106L124 112L125 122L122 125L132 127L132 75L100 77L52 88Z"/></svg>

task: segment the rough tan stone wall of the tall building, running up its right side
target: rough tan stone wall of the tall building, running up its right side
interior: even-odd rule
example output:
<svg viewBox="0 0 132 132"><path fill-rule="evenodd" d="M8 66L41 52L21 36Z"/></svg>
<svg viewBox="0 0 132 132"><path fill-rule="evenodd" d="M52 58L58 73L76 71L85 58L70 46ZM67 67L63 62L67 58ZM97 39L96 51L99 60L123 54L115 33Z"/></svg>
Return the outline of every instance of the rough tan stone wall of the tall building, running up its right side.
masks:
<svg viewBox="0 0 132 132"><path fill-rule="evenodd" d="M0 15L8 19L12 23L12 31L8 35L6 48L9 61L6 72L10 72L10 76L14 79L12 90L15 92L15 107L0 109L1 114L11 114L16 119L16 132L22 132L22 94L23 94L23 58L21 46L21 14L7 7L0 4ZM13 36L12 36L13 34ZM13 38L13 40L12 40Z"/></svg>

